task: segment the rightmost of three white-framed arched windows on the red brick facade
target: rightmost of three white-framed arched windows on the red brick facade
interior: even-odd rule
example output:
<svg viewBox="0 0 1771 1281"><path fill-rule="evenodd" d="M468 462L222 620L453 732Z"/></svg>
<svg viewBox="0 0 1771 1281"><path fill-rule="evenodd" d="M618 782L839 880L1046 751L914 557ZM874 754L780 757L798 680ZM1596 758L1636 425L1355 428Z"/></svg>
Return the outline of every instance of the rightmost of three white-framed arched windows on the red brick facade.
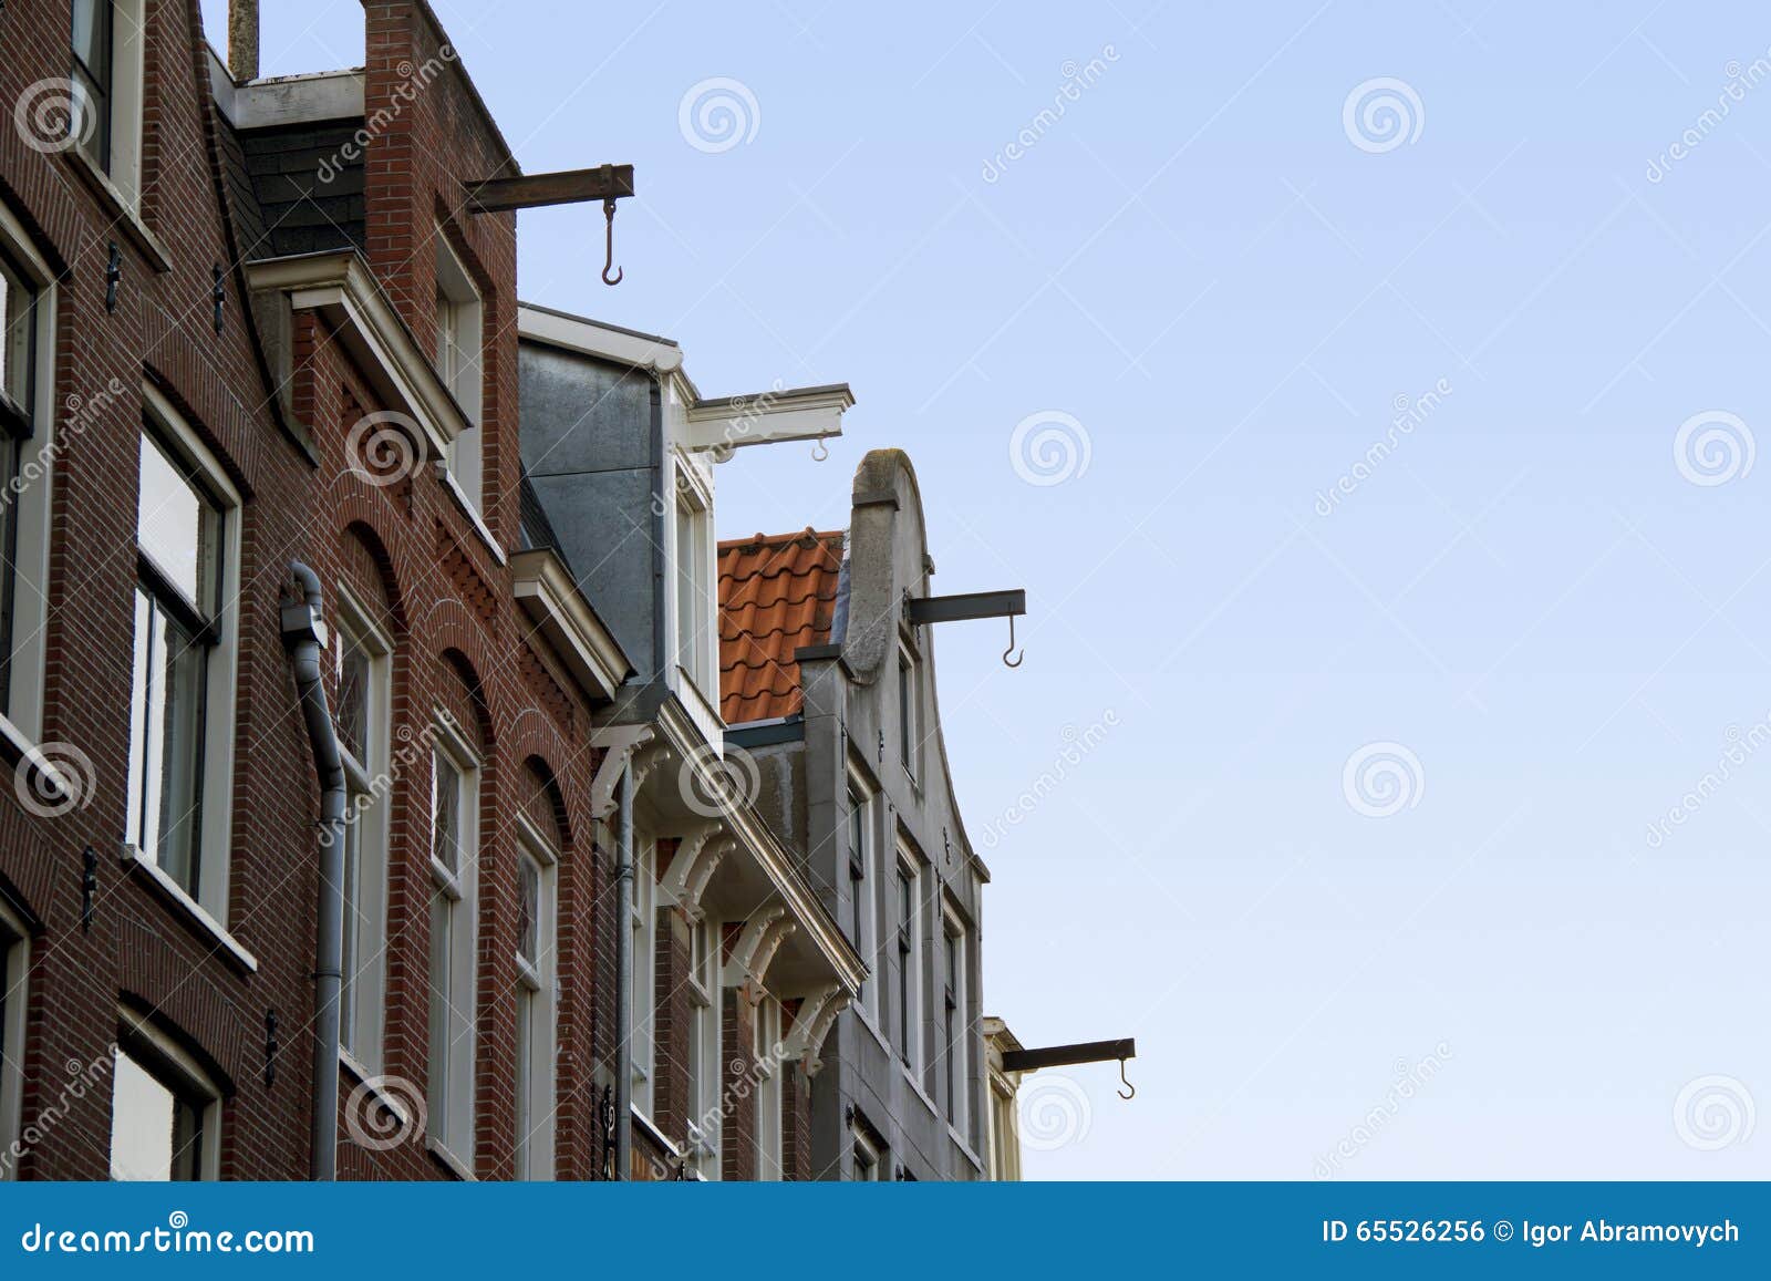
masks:
<svg viewBox="0 0 1771 1281"><path fill-rule="evenodd" d="M554 1176L554 1010L560 852L517 820L517 1178Z"/></svg>

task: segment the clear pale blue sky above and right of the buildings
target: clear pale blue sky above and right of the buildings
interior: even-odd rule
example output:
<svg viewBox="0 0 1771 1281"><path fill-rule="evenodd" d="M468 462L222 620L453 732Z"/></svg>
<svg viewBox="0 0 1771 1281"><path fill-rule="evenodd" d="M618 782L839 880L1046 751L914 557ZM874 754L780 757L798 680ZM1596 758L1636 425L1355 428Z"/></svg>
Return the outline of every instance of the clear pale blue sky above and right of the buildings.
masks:
<svg viewBox="0 0 1771 1281"><path fill-rule="evenodd" d="M266 11L267 73L361 62L356 0ZM829 462L723 470L721 533L839 526L900 445L937 588L1029 590L1022 670L940 636L974 842L1118 721L986 850L990 1010L1139 1042L1029 1176L1771 1176L1762 5L437 11L526 170L638 168L627 282L537 211L526 298L710 395L854 384ZM754 101L723 151L678 120L710 78ZM1401 133L1348 124L1378 78ZM1013 466L1038 413L1084 473Z"/></svg>

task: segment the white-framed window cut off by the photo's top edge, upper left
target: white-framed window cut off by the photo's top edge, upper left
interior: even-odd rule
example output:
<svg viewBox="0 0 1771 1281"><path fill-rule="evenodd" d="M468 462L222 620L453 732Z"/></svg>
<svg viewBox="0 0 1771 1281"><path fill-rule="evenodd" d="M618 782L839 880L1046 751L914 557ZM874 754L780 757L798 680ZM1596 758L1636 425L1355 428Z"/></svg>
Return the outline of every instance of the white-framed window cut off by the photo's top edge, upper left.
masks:
<svg viewBox="0 0 1771 1281"><path fill-rule="evenodd" d="M133 207L142 191L143 0L73 0L69 136Z"/></svg>

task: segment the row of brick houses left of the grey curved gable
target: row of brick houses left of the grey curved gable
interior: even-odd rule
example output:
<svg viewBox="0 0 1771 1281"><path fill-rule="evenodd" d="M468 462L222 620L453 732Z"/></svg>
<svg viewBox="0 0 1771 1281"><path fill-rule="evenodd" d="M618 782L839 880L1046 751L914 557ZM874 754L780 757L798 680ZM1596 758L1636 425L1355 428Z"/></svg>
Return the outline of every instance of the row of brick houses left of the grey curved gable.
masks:
<svg viewBox="0 0 1771 1281"><path fill-rule="evenodd" d="M864 966L724 758L712 461L847 392L519 308L423 0L237 12L0 11L0 1178L806 1178Z"/></svg>

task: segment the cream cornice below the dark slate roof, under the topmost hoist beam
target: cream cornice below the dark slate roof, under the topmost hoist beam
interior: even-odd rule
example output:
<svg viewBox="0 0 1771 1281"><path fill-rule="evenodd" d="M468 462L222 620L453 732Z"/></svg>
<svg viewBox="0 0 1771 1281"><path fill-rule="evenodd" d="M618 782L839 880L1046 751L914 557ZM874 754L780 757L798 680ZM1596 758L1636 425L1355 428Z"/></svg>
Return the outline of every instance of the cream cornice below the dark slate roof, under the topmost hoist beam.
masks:
<svg viewBox="0 0 1771 1281"><path fill-rule="evenodd" d="M375 390L420 425L432 457L471 425L356 250L248 262L246 282L253 294L287 296L296 312L321 312Z"/></svg>

